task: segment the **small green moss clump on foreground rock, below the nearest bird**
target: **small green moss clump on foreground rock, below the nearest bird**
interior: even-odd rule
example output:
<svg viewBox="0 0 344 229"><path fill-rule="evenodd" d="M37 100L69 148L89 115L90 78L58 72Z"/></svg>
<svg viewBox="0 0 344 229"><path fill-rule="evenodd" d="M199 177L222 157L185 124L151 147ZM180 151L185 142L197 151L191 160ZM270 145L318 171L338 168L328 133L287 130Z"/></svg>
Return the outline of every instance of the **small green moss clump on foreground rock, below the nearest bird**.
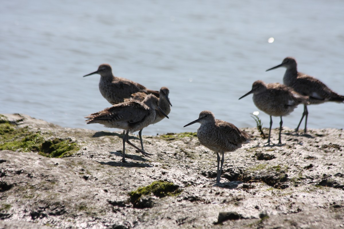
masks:
<svg viewBox="0 0 344 229"><path fill-rule="evenodd" d="M147 196L153 193L157 197L174 196L181 193L182 190L179 185L166 181L154 181L146 187L139 187L137 190L129 193L129 201L135 205L140 202L142 196Z"/></svg>

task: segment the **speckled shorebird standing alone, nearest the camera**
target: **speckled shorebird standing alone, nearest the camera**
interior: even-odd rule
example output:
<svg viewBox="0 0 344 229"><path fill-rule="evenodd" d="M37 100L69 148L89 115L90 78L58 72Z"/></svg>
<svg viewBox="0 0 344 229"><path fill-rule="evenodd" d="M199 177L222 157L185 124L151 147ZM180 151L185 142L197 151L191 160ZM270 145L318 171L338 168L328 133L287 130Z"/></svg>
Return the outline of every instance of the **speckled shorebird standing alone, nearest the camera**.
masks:
<svg viewBox="0 0 344 229"><path fill-rule="evenodd" d="M252 136L239 130L232 123L215 119L215 116L211 111L202 111L198 119L186 124L185 126L189 126L194 123L201 123L201 126L197 130L197 138L200 143L217 154L216 183L219 183L224 162L224 152L232 152L241 148L242 144L250 142L250 138ZM222 152L221 168L219 166L219 152Z"/></svg>

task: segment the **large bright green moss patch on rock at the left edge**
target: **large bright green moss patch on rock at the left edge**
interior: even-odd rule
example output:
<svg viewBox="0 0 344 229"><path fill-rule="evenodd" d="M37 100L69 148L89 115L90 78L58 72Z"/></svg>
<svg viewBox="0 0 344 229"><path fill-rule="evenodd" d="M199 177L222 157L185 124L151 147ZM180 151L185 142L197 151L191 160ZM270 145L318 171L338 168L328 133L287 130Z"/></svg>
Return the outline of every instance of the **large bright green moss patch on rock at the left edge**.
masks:
<svg viewBox="0 0 344 229"><path fill-rule="evenodd" d="M0 119L0 150L19 152L39 152L46 157L68 157L79 150L70 138L44 140L40 131L29 127L18 128L5 119Z"/></svg>

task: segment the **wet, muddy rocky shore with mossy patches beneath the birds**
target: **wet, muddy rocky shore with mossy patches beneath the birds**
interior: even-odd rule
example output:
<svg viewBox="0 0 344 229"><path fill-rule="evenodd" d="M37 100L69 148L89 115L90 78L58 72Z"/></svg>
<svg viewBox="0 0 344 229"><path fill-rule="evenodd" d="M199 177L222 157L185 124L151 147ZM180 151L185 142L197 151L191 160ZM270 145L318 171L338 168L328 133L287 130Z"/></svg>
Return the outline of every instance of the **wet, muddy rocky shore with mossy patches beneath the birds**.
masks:
<svg viewBox="0 0 344 229"><path fill-rule="evenodd" d="M143 136L151 158L128 147L122 163L121 131L1 120L0 228L344 228L342 129L284 128L266 147L244 128L252 142L225 154L214 186L215 153L194 133ZM25 145L4 144L13 131Z"/></svg>

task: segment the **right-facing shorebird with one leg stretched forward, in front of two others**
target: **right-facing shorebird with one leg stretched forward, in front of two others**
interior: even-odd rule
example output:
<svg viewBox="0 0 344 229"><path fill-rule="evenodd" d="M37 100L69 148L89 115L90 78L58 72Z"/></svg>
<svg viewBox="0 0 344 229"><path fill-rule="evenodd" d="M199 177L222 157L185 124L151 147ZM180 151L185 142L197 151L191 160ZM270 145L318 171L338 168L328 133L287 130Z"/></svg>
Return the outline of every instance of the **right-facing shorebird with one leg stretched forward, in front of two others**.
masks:
<svg viewBox="0 0 344 229"><path fill-rule="evenodd" d="M103 124L105 127L119 128L127 131L123 137L123 158L121 160L122 162L126 162L126 142L139 150L144 156L149 157L149 155L151 155L132 144L128 139L128 135L129 132L133 133L137 130L141 130L154 122L155 109L160 110L166 118L169 118L159 107L158 98L152 94L148 95L142 102L128 101L119 103L85 118L88 118L86 120L87 124L99 123Z"/></svg>

